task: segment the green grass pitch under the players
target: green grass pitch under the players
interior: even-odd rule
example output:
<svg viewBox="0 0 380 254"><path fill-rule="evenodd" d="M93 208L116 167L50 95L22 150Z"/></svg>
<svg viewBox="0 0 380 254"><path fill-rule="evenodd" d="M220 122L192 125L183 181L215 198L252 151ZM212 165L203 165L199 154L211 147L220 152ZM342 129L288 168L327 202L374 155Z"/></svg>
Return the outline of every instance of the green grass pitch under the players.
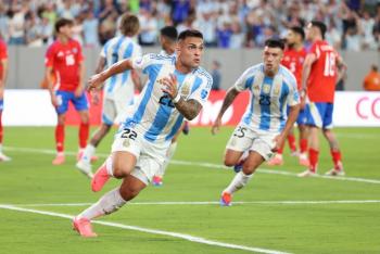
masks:
<svg viewBox="0 0 380 254"><path fill-rule="evenodd" d="M130 204L99 220L190 234L251 251L98 224L93 227L99 237L83 239L67 218L7 208L4 204L76 215L87 207L80 203L96 202L118 185L114 179L101 193L92 193L89 180L74 167L73 153L65 165L52 166L53 128L8 127L4 151L13 160L0 163L0 253L219 254L254 249L264 253L380 253L379 128L335 129L347 174L341 180L295 177L304 168L286 150L283 166L263 165L236 193L233 201L241 203L230 207L189 203L217 202L232 179L233 170L220 167L231 131L226 127L212 136L210 128L191 128L189 136L179 138L164 186L147 188ZM94 169L109 153L112 138L101 143ZM326 141L321 143L320 174L332 166ZM66 151L77 151L74 127L66 128Z"/></svg>

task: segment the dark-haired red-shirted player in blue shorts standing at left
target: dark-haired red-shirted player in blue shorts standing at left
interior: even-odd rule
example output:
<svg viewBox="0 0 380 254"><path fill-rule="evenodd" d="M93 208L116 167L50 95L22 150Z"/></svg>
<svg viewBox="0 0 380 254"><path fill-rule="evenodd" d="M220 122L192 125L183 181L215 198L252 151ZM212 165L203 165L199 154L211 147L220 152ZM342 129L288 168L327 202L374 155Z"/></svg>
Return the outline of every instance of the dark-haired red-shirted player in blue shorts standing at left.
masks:
<svg viewBox="0 0 380 254"><path fill-rule="evenodd" d="M80 116L79 152L86 148L89 136L88 102L84 92L84 56L78 41L72 39L73 21L61 18L55 23L56 40L48 48L46 54L46 79L49 86L51 103L55 107L58 124L55 127L56 157L53 165L63 164L65 116L68 102L74 104ZM55 74L55 84L52 82L51 72Z"/></svg>

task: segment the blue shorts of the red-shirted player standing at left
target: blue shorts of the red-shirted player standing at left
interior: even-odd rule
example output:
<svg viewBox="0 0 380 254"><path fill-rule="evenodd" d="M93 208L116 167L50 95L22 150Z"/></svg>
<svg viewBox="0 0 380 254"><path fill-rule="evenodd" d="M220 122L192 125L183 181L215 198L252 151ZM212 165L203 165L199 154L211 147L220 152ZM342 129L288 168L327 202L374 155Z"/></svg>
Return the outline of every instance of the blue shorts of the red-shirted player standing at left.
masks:
<svg viewBox="0 0 380 254"><path fill-rule="evenodd" d="M58 106L55 107L55 111L59 115L67 112L68 102L74 104L76 111L88 110L88 101L85 92L81 93L80 97L75 97L74 92L58 90L55 91L55 97L58 99Z"/></svg>

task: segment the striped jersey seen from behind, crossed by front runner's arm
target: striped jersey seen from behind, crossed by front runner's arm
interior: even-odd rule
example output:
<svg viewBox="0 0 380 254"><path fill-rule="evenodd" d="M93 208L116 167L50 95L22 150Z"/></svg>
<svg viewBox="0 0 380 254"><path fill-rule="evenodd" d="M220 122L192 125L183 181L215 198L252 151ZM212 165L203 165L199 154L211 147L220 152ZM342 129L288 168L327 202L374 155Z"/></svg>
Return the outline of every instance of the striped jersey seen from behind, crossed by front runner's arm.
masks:
<svg viewBox="0 0 380 254"><path fill-rule="evenodd" d="M140 58L141 47L130 37L116 36L104 45L100 55L105 59L105 68L107 68L124 59ZM112 76L105 81L104 97L107 99L130 104L134 101L134 94L135 85L130 71Z"/></svg>

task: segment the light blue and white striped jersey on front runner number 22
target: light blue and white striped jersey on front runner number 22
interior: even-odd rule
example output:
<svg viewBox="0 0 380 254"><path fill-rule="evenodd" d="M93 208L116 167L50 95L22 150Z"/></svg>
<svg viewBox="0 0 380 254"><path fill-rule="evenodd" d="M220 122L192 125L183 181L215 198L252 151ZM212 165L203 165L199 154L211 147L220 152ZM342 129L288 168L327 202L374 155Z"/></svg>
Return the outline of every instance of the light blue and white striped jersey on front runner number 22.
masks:
<svg viewBox="0 0 380 254"><path fill-rule="evenodd" d="M175 67L174 56L145 54L131 61L134 68L142 69L142 73L148 75L148 81L124 126L132 126L152 142L170 141L182 125L183 116L168 94L162 91L163 78L174 74L181 97L185 100L197 100L202 105L207 101L213 79L202 67L194 68L189 74L179 73Z"/></svg>

